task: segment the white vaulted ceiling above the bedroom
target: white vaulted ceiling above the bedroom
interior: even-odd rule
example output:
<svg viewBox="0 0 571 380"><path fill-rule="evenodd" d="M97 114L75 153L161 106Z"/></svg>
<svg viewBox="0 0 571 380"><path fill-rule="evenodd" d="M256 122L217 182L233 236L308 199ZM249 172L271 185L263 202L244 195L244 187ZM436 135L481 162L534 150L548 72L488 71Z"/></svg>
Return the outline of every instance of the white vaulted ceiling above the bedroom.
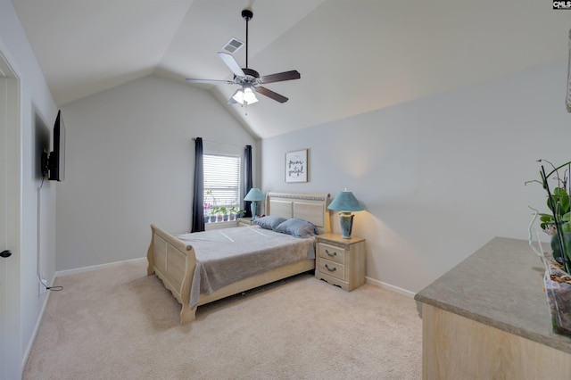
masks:
<svg viewBox="0 0 571 380"><path fill-rule="evenodd" d="M261 138L567 60L571 11L548 0L12 0L62 106L158 75L211 91ZM216 54L245 41L249 67L302 78L245 109ZM245 49L235 54L245 66ZM565 78L562 78L565 80ZM562 82L562 99L565 96ZM563 102L563 100L562 100Z"/></svg>

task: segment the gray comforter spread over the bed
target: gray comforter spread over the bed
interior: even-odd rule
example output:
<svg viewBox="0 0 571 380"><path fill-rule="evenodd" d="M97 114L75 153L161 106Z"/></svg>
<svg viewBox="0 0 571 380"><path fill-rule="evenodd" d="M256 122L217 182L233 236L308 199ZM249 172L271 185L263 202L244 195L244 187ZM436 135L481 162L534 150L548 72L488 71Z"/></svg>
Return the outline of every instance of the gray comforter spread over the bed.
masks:
<svg viewBox="0 0 571 380"><path fill-rule="evenodd" d="M258 226L234 227L177 235L191 244L196 268L190 294L190 307L200 294L210 294L236 281L293 264L315 259L315 239L263 229Z"/></svg>

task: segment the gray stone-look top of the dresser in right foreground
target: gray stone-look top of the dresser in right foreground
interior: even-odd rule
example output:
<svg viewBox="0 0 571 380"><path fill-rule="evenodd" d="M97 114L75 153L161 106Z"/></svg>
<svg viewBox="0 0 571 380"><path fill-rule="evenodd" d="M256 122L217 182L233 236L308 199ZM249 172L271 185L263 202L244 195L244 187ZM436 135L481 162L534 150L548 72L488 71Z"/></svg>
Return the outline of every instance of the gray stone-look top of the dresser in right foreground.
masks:
<svg viewBox="0 0 571 380"><path fill-rule="evenodd" d="M526 240L494 237L415 300L571 353L571 337L553 332L544 273Z"/></svg>

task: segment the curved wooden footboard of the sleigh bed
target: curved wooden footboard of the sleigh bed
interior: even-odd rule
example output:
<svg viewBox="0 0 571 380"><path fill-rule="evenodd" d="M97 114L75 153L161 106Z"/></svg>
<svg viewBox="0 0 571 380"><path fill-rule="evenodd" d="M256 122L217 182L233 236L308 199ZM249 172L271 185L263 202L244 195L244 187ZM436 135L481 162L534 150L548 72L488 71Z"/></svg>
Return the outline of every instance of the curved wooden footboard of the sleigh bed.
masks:
<svg viewBox="0 0 571 380"><path fill-rule="evenodd" d="M193 282L196 256L194 248L185 244L160 227L151 225L152 237L147 251L147 275L156 274L182 305L180 323L195 318L196 307L190 309L190 287Z"/></svg>

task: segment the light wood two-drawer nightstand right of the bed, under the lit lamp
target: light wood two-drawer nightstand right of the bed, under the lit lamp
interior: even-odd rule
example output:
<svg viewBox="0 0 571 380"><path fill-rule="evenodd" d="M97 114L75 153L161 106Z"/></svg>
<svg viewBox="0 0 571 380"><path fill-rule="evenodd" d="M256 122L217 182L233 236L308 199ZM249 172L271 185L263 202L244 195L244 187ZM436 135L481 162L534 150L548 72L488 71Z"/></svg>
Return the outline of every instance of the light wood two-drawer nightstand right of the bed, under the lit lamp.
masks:
<svg viewBox="0 0 571 380"><path fill-rule="evenodd" d="M365 239L355 236L343 239L339 234L315 238L315 277L347 292L365 284Z"/></svg>

